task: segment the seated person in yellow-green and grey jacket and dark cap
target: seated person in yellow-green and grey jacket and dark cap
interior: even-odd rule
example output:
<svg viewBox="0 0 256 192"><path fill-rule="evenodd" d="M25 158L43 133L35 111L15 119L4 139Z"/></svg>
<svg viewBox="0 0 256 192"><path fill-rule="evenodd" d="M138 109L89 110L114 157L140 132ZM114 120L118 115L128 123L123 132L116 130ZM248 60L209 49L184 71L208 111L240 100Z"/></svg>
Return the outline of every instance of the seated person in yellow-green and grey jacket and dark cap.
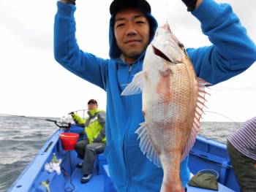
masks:
<svg viewBox="0 0 256 192"><path fill-rule="evenodd" d="M91 179L91 173L94 168L94 160L97 154L102 153L106 146L105 137L105 112L98 110L97 101L90 99L88 101L89 118L83 119L70 112L73 120L78 125L85 126L87 139L83 139L75 145L75 151L78 158L83 159L83 164L78 164L82 168L83 177L81 183L87 183Z"/></svg>

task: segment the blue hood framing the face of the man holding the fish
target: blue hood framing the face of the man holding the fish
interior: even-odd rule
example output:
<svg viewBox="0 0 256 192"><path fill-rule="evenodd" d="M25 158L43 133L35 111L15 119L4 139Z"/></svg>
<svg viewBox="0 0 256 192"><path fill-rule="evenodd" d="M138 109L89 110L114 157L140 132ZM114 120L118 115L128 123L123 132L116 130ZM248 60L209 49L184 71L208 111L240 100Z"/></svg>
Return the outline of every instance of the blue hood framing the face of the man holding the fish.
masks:
<svg viewBox="0 0 256 192"><path fill-rule="evenodd" d="M150 38L149 38L149 42L152 41L154 34L157 30L157 20L150 14L150 13L145 13L146 18L148 18L149 24L150 24ZM109 50L109 56L112 59L118 59L120 58L121 55L121 50L118 48L117 44L116 44L116 38L115 38L115 34L114 34L114 23L115 23L115 16L116 15L111 15L110 18L110 28L109 28L109 44L110 44L110 50ZM143 58L143 56L146 53L146 49L145 51L143 51L143 53L141 53L139 58Z"/></svg>

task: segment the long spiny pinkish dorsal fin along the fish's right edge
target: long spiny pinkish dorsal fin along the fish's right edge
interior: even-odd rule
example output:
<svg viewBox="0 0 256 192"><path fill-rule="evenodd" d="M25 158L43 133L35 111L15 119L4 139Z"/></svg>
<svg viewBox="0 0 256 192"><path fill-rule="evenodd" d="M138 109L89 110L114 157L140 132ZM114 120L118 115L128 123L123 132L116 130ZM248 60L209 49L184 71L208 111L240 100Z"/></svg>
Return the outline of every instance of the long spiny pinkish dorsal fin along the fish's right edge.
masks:
<svg viewBox="0 0 256 192"><path fill-rule="evenodd" d="M189 140L182 152L181 160L184 160L184 158L187 157L187 155L189 154L189 151L192 149L193 145L195 144L195 139L200 129L200 118L202 117L202 114L204 114L203 107L206 107L205 96L208 93L205 91L205 88L206 88L206 85L211 85L211 83L208 83L205 80L200 79L199 77L197 77L197 84L198 84L198 94L197 94L197 105L195 109L195 118L194 118L194 122L190 132Z"/></svg>

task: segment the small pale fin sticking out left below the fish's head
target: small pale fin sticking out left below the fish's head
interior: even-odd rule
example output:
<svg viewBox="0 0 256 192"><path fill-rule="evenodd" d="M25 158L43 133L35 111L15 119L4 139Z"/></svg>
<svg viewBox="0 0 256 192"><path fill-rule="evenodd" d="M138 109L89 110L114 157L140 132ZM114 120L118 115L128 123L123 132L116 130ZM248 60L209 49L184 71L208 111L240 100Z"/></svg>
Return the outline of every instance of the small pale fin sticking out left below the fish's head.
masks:
<svg viewBox="0 0 256 192"><path fill-rule="evenodd" d="M129 95L135 95L138 93L141 93L143 90L143 76L146 72L138 72L135 74L135 77L133 77L132 82L130 82L126 88L124 88L124 91L121 93L121 96L129 96Z"/></svg>

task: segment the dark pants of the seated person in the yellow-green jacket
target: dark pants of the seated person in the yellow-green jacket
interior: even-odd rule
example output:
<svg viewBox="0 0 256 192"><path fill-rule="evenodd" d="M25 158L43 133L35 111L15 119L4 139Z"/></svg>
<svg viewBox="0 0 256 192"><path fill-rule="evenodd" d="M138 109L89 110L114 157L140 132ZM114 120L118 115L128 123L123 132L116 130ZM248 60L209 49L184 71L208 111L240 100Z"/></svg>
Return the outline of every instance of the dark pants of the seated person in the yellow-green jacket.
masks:
<svg viewBox="0 0 256 192"><path fill-rule="evenodd" d="M75 145L75 151L78 153L78 158L83 159L82 174L91 174L94 169L94 161L97 154L105 150L104 142L94 142L89 144L87 140L81 140Z"/></svg>

